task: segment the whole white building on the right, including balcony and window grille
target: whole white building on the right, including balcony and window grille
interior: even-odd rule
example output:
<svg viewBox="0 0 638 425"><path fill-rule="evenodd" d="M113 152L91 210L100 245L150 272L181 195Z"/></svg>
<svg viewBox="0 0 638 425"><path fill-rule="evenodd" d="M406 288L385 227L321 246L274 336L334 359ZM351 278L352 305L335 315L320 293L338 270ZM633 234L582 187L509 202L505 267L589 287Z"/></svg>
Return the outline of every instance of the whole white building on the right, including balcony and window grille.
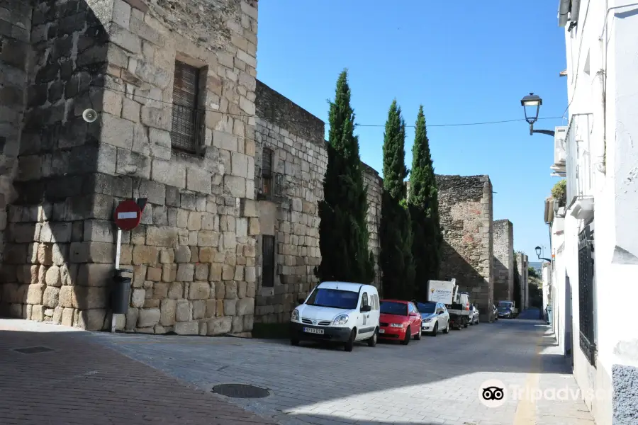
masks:
<svg viewBox="0 0 638 425"><path fill-rule="evenodd" d="M552 166L567 179L550 220L556 336L596 424L636 424L638 3L560 0L559 25L569 123Z"/></svg>

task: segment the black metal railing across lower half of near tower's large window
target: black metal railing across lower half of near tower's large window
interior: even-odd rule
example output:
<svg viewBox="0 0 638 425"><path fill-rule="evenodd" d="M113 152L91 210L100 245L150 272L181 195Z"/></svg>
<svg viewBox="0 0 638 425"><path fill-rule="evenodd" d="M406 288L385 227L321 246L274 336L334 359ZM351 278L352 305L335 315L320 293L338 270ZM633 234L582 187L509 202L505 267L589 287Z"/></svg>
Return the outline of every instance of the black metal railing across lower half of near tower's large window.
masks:
<svg viewBox="0 0 638 425"><path fill-rule="evenodd" d="M197 152L203 139L205 113L203 109L173 104L171 146L174 149Z"/></svg>

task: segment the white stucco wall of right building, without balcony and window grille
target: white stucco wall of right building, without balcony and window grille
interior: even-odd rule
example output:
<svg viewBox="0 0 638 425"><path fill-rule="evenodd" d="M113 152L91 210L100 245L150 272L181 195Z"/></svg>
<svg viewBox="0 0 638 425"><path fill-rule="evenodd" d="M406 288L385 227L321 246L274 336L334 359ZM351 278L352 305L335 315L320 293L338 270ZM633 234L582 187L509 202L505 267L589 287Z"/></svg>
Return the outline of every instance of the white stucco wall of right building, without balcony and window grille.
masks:
<svg viewBox="0 0 638 425"><path fill-rule="evenodd" d="M581 0L578 26L566 32L569 115L592 114L596 367L579 346L578 232L584 223L569 211L554 278L556 297L564 297L558 270L558 263L564 263L572 287L574 375L582 390L598 390L597 399L586 400L598 425L612 424L612 366L638 367L638 327L631 325L635 309L630 307L638 299L638 6L609 13L606 8L634 3ZM598 170L603 154L605 169ZM620 307L623 302L627 308Z"/></svg>

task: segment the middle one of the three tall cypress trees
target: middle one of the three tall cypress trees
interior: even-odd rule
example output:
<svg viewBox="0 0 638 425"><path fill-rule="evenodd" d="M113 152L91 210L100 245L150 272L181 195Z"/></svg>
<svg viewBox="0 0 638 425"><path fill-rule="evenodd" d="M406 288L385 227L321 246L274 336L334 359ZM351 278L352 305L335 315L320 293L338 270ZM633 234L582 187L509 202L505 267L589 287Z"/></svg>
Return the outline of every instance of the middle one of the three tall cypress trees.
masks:
<svg viewBox="0 0 638 425"><path fill-rule="evenodd" d="M384 193L381 200L381 251L384 297L414 297L414 264L410 212L405 202L405 121L392 102L384 132Z"/></svg>

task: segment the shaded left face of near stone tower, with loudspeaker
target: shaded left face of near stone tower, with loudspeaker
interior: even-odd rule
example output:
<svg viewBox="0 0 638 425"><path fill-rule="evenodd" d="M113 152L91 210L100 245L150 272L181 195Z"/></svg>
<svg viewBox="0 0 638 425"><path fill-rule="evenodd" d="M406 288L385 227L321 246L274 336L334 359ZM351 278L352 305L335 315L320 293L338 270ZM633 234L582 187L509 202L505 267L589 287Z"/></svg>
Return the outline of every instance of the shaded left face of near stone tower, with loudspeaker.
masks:
<svg viewBox="0 0 638 425"><path fill-rule="evenodd" d="M102 109L108 35L86 0L34 3L30 36L11 40L31 54L25 54L30 77L21 139L7 142L19 157L0 312L103 329L110 321L113 205L116 197L130 197L134 185L100 174L115 162L106 148L115 148L99 144L101 118L82 118L87 108ZM12 64L0 66L13 72Z"/></svg>

